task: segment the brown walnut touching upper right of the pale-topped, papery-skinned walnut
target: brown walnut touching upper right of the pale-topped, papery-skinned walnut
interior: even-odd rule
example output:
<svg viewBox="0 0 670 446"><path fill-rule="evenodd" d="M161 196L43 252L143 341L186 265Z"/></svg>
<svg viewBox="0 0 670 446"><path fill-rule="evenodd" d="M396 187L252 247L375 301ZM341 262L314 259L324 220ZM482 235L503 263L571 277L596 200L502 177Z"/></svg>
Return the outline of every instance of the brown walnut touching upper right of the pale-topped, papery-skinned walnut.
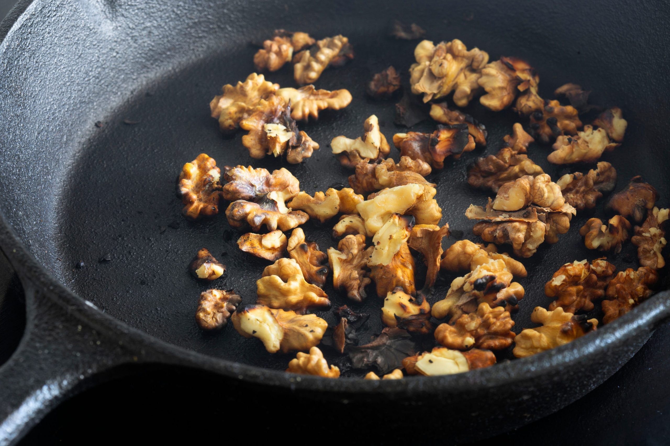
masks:
<svg viewBox="0 0 670 446"><path fill-rule="evenodd" d="M576 210L593 209L603 192L614 189L616 169L607 161L599 161L597 168L586 175L581 172L565 173L556 183L561 187L565 202Z"/></svg>

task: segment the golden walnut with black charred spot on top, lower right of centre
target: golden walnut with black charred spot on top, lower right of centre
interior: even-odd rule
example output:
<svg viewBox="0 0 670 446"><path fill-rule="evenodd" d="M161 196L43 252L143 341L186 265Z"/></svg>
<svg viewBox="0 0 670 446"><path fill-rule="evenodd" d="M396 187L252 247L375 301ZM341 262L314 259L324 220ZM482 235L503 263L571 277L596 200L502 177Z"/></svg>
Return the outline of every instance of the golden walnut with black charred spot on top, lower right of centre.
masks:
<svg viewBox="0 0 670 446"><path fill-rule="evenodd" d="M524 289L512 282L513 275L502 260L489 260L478 265L464 277L457 277L447 295L433 305L436 319L451 316L454 322L464 313L476 311L482 302L494 307L517 308L523 299Z"/></svg>

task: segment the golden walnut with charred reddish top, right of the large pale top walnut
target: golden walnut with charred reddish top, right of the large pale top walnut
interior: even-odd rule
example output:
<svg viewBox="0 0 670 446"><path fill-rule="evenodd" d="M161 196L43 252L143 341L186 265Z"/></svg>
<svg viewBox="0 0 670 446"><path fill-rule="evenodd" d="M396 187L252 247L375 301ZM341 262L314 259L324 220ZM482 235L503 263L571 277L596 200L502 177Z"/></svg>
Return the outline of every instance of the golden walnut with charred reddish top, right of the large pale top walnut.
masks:
<svg viewBox="0 0 670 446"><path fill-rule="evenodd" d="M535 68L518 58L501 57L482 68L478 84L486 94L479 102L493 111L504 110L517 97L517 92L525 91L531 84L537 86L539 77Z"/></svg>

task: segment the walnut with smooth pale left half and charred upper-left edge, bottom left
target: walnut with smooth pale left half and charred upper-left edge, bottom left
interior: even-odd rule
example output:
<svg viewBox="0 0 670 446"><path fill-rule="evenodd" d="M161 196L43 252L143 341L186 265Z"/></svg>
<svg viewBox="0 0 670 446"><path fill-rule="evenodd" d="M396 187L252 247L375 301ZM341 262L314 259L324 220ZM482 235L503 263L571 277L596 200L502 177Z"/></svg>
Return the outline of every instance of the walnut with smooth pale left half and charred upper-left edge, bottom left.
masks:
<svg viewBox="0 0 670 446"><path fill-rule="evenodd" d="M317 315L299 315L265 305L245 305L230 319L238 333L245 338L259 338L270 353L310 350L321 342L328 328L328 323Z"/></svg>

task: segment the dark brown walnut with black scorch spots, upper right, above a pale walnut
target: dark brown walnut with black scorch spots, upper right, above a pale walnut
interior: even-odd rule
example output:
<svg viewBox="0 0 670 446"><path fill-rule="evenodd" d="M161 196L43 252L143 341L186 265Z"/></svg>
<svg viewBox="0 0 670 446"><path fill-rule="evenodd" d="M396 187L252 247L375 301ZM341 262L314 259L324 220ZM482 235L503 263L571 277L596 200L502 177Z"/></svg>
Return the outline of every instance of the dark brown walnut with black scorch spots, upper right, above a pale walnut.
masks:
<svg viewBox="0 0 670 446"><path fill-rule="evenodd" d="M582 121L574 106L561 105L557 100L549 100L541 110L531 114L529 127L535 139L547 144L561 135L575 135L577 129L582 127Z"/></svg>

